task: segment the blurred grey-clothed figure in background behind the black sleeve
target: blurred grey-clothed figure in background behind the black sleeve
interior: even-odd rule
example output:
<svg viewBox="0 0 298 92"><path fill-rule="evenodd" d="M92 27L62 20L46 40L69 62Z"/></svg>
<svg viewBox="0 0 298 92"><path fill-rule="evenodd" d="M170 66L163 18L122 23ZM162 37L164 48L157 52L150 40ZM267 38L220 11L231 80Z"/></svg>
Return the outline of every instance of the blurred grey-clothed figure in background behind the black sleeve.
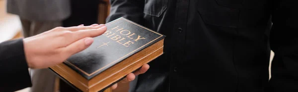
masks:
<svg viewBox="0 0 298 92"><path fill-rule="evenodd" d="M20 17L24 38L62 26L70 11L70 0L7 0L7 12ZM57 75L49 69L30 69L30 76L30 92L54 92Z"/></svg>

